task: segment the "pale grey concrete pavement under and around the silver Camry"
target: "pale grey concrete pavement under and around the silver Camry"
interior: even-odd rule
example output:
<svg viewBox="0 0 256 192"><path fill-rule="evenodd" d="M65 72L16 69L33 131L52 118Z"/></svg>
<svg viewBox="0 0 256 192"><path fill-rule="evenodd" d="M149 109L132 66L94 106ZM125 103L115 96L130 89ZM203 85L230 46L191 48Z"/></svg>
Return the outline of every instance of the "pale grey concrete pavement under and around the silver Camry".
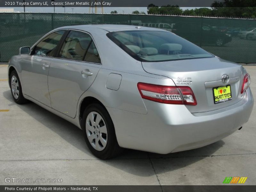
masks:
<svg viewBox="0 0 256 192"><path fill-rule="evenodd" d="M255 99L256 67L245 68ZM226 177L248 177L242 185L255 185L255 116L254 107L243 129L203 148L168 155L126 149L99 160L75 125L32 102L14 103L7 65L0 65L0 185L13 185L7 177L62 179L28 183L47 185L221 185Z"/></svg>

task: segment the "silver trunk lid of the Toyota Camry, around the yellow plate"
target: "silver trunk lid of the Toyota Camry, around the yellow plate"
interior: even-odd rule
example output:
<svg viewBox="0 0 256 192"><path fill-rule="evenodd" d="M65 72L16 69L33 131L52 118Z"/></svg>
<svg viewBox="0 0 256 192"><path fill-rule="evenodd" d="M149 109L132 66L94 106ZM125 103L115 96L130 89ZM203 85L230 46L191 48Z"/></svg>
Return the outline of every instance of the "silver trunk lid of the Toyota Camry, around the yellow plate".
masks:
<svg viewBox="0 0 256 192"><path fill-rule="evenodd" d="M164 62L142 62L148 73L171 78L177 86L189 86L196 97L197 105L188 106L191 113L212 111L235 104L242 99L243 67L218 57L172 60ZM223 75L229 76L227 84ZM213 88L230 85L232 100L214 104Z"/></svg>

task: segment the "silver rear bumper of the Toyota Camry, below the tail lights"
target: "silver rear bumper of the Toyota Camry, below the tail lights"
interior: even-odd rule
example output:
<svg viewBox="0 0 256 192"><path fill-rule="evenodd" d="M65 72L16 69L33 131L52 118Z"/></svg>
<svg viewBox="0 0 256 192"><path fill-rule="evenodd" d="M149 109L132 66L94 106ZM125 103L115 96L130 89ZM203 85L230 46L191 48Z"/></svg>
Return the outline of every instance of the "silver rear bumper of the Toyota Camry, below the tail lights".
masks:
<svg viewBox="0 0 256 192"><path fill-rule="evenodd" d="M246 123L253 108L250 88L236 104L204 113L185 105L144 100L147 115L107 108L119 145L160 154L203 147L230 135Z"/></svg>

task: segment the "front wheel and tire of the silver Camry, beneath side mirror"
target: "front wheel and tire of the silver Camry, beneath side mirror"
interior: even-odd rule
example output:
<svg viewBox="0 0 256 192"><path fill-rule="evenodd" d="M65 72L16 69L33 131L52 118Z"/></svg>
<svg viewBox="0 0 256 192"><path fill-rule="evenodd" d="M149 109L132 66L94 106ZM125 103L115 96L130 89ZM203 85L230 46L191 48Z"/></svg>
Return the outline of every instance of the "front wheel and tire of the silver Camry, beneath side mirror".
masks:
<svg viewBox="0 0 256 192"><path fill-rule="evenodd" d="M15 70L11 72L9 81L11 85L12 98L15 101L15 103L17 104L27 103L28 100L26 100L23 97L20 78Z"/></svg>

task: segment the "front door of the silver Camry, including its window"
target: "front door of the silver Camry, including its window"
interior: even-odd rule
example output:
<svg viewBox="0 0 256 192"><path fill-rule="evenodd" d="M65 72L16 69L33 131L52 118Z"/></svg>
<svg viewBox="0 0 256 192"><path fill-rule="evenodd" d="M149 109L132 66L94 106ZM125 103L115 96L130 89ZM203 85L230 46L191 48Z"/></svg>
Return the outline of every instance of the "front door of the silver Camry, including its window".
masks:
<svg viewBox="0 0 256 192"><path fill-rule="evenodd" d="M33 99L51 107L48 91L48 71L65 30L55 31L44 37L30 55L22 55L22 91Z"/></svg>

